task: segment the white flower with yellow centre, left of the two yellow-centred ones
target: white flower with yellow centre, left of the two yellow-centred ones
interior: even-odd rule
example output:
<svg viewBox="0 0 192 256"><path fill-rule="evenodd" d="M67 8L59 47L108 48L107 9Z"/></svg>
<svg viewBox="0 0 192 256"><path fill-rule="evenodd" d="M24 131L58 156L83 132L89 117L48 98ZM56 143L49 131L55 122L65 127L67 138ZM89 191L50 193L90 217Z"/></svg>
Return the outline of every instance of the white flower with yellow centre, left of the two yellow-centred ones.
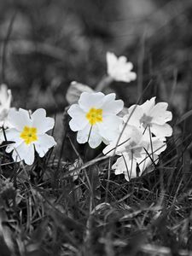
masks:
<svg viewBox="0 0 192 256"><path fill-rule="evenodd" d="M35 150L43 157L49 148L55 146L54 138L45 133L54 127L55 120L46 117L43 108L31 115L22 108L19 111L10 109L8 120L13 128L5 131L6 137L9 142L14 143L9 144L6 152L13 150L12 157L16 162L25 160L27 165L32 165Z"/></svg>

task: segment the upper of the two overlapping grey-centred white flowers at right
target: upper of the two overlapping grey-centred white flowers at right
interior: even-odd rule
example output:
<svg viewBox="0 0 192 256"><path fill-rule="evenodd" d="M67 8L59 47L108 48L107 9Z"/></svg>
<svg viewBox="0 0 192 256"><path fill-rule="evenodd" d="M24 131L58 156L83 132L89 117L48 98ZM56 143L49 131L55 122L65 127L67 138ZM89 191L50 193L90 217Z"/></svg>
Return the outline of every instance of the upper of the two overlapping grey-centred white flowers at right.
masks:
<svg viewBox="0 0 192 256"><path fill-rule="evenodd" d="M172 127L166 122L172 120L172 112L167 111L168 104L160 102L155 104L155 97L144 102L143 105L133 105L129 114L124 116L129 125L135 125L143 132L150 130L156 137L172 136Z"/></svg>

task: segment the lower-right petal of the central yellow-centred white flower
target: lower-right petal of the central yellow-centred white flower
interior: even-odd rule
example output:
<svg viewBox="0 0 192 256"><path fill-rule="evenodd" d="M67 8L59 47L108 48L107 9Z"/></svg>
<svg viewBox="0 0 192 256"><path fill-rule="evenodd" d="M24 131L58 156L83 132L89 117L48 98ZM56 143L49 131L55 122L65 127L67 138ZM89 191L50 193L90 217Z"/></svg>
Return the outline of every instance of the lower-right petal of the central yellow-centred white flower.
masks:
<svg viewBox="0 0 192 256"><path fill-rule="evenodd" d="M119 136L119 125L122 123L122 119L120 119L116 115L109 115L107 117L103 117L101 123L97 124L100 135L108 141L113 141L116 137Z"/></svg>

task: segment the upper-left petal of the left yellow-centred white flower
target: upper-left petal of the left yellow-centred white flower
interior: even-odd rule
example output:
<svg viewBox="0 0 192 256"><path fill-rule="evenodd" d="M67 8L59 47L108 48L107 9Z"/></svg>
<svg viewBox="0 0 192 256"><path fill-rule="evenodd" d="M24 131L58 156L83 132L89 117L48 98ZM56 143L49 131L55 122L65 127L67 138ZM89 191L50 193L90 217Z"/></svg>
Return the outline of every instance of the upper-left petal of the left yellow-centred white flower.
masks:
<svg viewBox="0 0 192 256"><path fill-rule="evenodd" d="M32 120L29 118L28 111L22 108L20 108L19 111L11 108L8 114L8 121L18 131L22 131L24 126L32 125Z"/></svg>

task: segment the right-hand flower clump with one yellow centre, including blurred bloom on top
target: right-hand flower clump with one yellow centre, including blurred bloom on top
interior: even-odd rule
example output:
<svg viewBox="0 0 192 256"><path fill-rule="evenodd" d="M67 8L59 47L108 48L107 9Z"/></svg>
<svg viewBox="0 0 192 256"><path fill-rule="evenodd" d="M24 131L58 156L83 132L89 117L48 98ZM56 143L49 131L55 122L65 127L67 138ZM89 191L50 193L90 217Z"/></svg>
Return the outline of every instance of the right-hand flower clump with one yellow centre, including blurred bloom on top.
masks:
<svg viewBox="0 0 192 256"><path fill-rule="evenodd" d="M111 52L106 55L108 79L103 86L114 81L131 82L137 79L133 65L125 56L119 58ZM172 113L168 104L155 104L155 97L142 105L123 109L123 102L114 94L104 96L89 86L73 82L67 91L67 102L73 104L68 114L72 131L78 131L78 143L89 143L96 148L100 143L108 146L103 154L119 155L113 164L115 174L123 173L126 180L141 175L148 166L155 166L159 155L166 149L166 137L172 136ZM123 111L122 111L123 110Z"/></svg>

